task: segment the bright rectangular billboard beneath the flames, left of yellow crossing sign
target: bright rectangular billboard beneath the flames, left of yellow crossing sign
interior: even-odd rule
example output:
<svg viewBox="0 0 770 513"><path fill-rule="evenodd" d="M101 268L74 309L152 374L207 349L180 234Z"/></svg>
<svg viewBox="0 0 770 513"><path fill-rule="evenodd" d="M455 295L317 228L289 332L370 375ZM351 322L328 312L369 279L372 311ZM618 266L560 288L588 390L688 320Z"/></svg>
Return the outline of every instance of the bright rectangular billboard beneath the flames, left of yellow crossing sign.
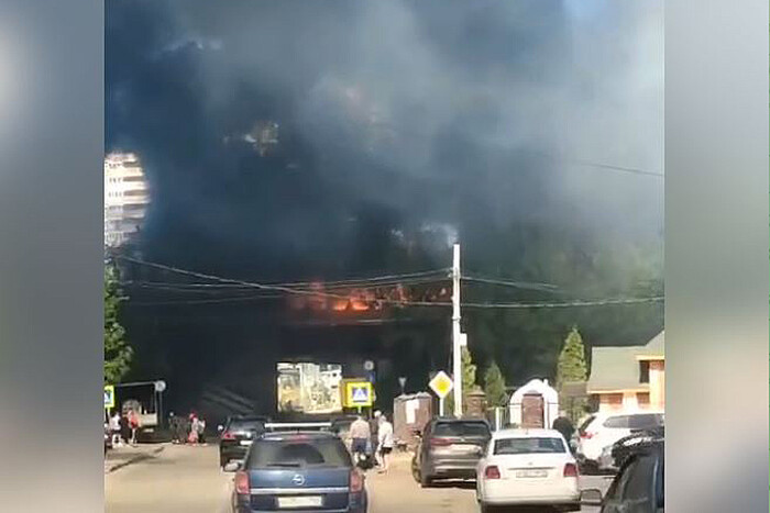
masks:
<svg viewBox="0 0 770 513"><path fill-rule="evenodd" d="M342 411L341 365L282 363L276 370L279 412L326 414Z"/></svg>

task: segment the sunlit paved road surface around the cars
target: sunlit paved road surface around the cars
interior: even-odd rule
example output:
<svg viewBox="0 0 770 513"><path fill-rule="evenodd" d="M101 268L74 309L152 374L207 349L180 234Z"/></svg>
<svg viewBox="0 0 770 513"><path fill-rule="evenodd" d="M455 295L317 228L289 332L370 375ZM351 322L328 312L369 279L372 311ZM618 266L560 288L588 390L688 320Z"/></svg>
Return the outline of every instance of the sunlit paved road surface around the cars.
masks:
<svg viewBox="0 0 770 513"><path fill-rule="evenodd" d="M218 467L216 446L169 445L156 456L105 476L107 513L223 513L229 511L232 473ZM581 478L583 488L606 490L607 479ZM477 512L473 484L421 489L409 472L408 456L397 457L387 475L370 471L370 513ZM583 509L595 513L595 509Z"/></svg>

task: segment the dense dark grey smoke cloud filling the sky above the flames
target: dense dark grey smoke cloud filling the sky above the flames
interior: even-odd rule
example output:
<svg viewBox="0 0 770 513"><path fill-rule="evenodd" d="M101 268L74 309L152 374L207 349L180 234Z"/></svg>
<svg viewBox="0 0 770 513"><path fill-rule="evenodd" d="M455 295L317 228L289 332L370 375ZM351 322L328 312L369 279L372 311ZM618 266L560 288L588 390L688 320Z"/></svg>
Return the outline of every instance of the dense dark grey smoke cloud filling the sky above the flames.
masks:
<svg viewBox="0 0 770 513"><path fill-rule="evenodd" d="M660 244L660 2L121 1L108 147L154 189L147 254L343 276L512 224ZM600 235L596 235L600 234ZM426 242L430 241L430 242Z"/></svg>

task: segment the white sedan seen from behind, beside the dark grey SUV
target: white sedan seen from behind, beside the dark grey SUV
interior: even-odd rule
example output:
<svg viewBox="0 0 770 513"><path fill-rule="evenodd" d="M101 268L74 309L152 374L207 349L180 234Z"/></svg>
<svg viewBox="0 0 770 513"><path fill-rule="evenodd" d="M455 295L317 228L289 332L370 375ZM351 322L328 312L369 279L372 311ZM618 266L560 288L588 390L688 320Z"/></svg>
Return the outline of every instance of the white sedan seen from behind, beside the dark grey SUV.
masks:
<svg viewBox="0 0 770 513"><path fill-rule="evenodd" d="M578 462L554 430L495 432L476 468L482 512L539 505L580 511Z"/></svg>

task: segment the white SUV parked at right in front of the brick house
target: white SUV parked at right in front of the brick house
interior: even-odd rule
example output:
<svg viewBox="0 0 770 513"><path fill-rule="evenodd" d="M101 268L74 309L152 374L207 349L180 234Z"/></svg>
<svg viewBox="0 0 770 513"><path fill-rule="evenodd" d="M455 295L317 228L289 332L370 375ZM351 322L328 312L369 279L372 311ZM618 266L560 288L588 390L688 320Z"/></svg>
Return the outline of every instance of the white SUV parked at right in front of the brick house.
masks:
<svg viewBox="0 0 770 513"><path fill-rule="evenodd" d="M602 451L634 432L663 425L663 412L596 413L578 430L578 461L583 472L598 470Z"/></svg>

